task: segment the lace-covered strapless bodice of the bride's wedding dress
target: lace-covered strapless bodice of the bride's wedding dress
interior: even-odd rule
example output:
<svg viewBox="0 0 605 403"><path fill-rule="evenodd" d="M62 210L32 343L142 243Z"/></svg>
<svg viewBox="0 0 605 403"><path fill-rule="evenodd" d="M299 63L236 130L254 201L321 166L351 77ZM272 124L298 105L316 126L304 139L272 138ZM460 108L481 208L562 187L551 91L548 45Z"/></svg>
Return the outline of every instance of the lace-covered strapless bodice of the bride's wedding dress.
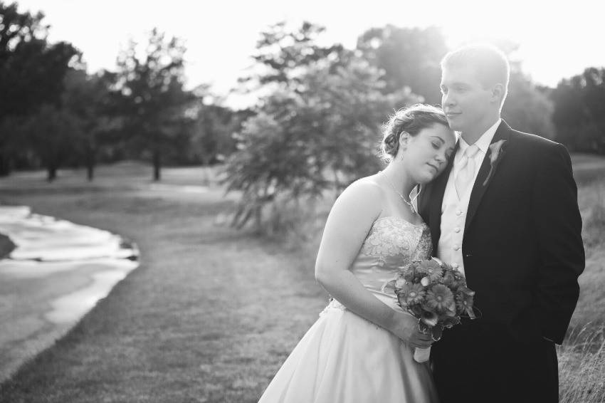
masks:
<svg viewBox="0 0 605 403"><path fill-rule="evenodd" d="M351 271L370 291L382 293L399 267L431 257L431 233L426 224L411 224L396 216L374 221ZM393 290L384 291L393 295Z"/></svg>

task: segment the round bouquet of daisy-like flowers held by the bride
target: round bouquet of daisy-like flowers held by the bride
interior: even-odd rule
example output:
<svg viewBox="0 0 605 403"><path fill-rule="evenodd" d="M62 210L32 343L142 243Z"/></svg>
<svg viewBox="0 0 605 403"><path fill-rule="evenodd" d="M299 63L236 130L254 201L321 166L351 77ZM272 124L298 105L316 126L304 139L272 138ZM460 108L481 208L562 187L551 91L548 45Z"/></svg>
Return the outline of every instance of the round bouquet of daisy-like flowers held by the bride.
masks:
<svg viewBox="0 0 605 403"><path fill-rule="evenodd" d="M462 273L437 258L415 261L401 268L394 281L401 308L418 318L418 328L438 341L443 328L460 323L461 317L475 318L473 295ZM391 283L391 282L389 282ZM428 360L431 347L416 348L414 360Z"/></svg>

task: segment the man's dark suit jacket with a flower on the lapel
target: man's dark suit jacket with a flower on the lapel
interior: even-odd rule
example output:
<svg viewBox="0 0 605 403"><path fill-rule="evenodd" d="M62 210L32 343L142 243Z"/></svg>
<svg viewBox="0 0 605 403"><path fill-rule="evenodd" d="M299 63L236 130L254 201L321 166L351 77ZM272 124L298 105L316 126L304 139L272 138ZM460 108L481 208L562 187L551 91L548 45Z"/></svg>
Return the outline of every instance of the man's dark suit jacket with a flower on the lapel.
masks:
<svg viewBox="0 0 605 403"><path fill-rule="evenodd" d="M468 287L482 325L495 325L519 342L545 337L561 343L579 296L584 270L582 219L572 163L564 146L512 130L501 122L494 142L505 140L498 165L490 152L470 196L463 236ZM452 158L453 160L453 158ZM431 228L433 253L441 235L441 204L452 160L419 197ZM456 331L456 327L446 330Z"/></svg>

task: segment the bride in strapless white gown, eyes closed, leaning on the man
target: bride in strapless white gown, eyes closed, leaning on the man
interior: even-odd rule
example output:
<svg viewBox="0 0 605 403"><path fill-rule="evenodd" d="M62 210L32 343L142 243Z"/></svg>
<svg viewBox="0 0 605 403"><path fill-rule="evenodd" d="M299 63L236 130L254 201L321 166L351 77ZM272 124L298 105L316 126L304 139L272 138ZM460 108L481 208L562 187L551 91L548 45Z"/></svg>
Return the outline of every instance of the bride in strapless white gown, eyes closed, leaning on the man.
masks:
<svg viewBox="0 0 605 403"><path fill-rule="evenodd" d="M327 218L315 278L331 300L273 377L261 403L436 402L429 347L416 318L382 289L398 266L431 257L431 234L409 199L445 169L456 138L430 105L401 109L384 128L388 166L342 192Z"/></svg>

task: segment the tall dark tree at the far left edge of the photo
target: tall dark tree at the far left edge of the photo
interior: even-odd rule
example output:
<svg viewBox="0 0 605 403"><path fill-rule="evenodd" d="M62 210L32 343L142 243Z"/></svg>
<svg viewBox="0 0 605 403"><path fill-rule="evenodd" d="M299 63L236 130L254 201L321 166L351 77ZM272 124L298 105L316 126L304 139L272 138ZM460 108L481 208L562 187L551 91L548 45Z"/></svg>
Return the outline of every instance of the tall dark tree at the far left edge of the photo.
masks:
<svg viewBox="0 0 605 403"><path fill-rule="evenodd" d="M0 125L4 127L13 127L19 117L36 113L42 105L60 103L63 78L80 56L70 43L48 43L43 17L21 13L16 3L0 1ZM7 119L11 122L1 123ZM11 157L22 152L18 133L11 130L0 137L0 175L9 174Z"/></svg>

